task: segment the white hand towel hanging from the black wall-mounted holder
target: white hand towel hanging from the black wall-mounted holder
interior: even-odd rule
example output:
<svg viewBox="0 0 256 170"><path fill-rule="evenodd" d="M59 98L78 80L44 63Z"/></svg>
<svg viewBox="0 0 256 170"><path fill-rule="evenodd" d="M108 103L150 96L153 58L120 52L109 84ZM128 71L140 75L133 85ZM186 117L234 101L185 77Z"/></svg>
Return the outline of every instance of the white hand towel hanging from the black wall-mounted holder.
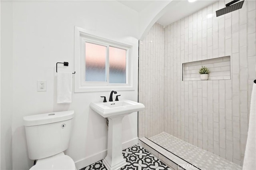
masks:
<svg viewBox="0 0 256 170"><path fill-rule="evenodd" d="M72 73L57 73L57 103L71 103Z"/></svg>

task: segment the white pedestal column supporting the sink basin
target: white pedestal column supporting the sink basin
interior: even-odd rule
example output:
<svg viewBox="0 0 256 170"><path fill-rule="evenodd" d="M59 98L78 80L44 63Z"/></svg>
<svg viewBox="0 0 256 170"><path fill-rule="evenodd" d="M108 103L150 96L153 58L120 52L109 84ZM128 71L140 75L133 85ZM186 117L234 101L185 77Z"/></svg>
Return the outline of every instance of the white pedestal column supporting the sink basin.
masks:
<svg viewBox="0 0 256 170"><path fill-rule="evenodd" d="M108 117L108 154L103 164L108 170L118 170L127 164L122 155L122 119L125 115Z"/></svg>

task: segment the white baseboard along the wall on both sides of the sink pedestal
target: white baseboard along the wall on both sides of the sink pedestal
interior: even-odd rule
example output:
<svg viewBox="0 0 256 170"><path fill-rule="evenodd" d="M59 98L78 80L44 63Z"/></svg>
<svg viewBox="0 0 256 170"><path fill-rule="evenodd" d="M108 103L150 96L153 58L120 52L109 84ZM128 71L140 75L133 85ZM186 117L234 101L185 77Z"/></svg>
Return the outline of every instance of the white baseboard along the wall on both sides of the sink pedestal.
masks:
<svg viewBox="0 0 256 170"><path fill-rule="evenodd" d="M126 149L129 148L135 144L138 144L138 137L134 138L132 140L129 140L127 142L122 143L122 149ZM102 152L98 152L96 154L93 154L91 156L87 156L83 159L80 159L78 161L75 162L76 164L76 169L80 170L90 164L93 164L95 162L98 162L99 160L104 159L107 156L107 150L102 150Z"/></svg>

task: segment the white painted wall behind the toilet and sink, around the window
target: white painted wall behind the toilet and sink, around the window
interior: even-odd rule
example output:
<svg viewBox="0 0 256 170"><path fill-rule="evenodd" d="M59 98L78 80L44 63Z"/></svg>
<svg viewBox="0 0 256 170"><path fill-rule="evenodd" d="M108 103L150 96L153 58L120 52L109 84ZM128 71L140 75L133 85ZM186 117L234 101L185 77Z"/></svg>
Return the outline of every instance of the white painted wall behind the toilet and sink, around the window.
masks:
<svg viewBox="0 0 256 170"><path fill-rule="evenodd" d="M2 9L6 7L7 2L1 4ZM100 96L108 97L110 92L73 93L71 104L57 104L55 65L56 62L68 61L70 66L66 69L70 72L76 69L73 68L74 26L90 30L97 36L138 45L138 13L116 1L14 1L10 8L12 11L8 12L13 17L10 19L13 34L4 38L1 44L12 40L13 58L1 55L1 59L13 62L8 67L13 77L9 91L13 95L1 95L2 101L13 101L8 102L13 108L12 120L6 118L8 123L12 123L12 151L9 152L10 155L12 152L12 168L28 169L32 166L22 118L53 111L75 111L73 134L66 154L74 159L78 169L104 158L107 147L106 121L89 108L89 103L101 101ZM1 10L1 16L6 13ZM9 28L2 23L1 27ZM138 48L134 49L134 83L137 84ZM46 92L37 92L37 80L47 81ZM1 82L3 87L7 86L7 82ZM138 89L135 87L135 91L118 91L120 99L137 101ZM1 111L1 118L10 117L11 114L8 114ZM137 135L137 113L133 113L124 118L123 142L131 140L128 145L132 144L137 141Z"/></svg>

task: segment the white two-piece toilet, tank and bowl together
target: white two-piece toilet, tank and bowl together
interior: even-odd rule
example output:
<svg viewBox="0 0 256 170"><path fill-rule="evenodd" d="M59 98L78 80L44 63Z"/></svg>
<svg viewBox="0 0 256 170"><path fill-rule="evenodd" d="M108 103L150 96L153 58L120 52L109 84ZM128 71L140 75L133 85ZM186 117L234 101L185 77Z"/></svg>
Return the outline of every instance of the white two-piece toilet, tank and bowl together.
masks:
<svg viewBox="0 0 256 170"><path fill-rule="evenodd" d="M28 156L37 160L30 170L76 170L74 160L64 154L72 131L74 111L23 117Z"/></svg>

